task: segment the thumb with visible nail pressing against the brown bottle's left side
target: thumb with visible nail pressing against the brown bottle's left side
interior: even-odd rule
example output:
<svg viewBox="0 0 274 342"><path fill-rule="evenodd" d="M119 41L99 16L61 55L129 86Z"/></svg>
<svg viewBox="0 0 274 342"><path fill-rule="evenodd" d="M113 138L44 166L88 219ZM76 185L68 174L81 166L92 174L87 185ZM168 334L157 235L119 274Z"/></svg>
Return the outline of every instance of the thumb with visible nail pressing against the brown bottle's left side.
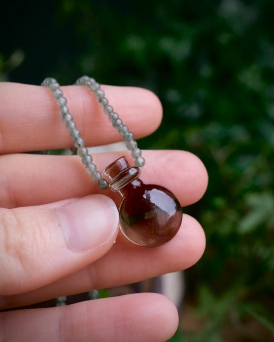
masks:
<svg viewBox="0 0 274 342"><path fill-rule="evenodd" d="M0 294L47 285L100 258L118 221L115 203L102 195L0 209Z"/></svg>

